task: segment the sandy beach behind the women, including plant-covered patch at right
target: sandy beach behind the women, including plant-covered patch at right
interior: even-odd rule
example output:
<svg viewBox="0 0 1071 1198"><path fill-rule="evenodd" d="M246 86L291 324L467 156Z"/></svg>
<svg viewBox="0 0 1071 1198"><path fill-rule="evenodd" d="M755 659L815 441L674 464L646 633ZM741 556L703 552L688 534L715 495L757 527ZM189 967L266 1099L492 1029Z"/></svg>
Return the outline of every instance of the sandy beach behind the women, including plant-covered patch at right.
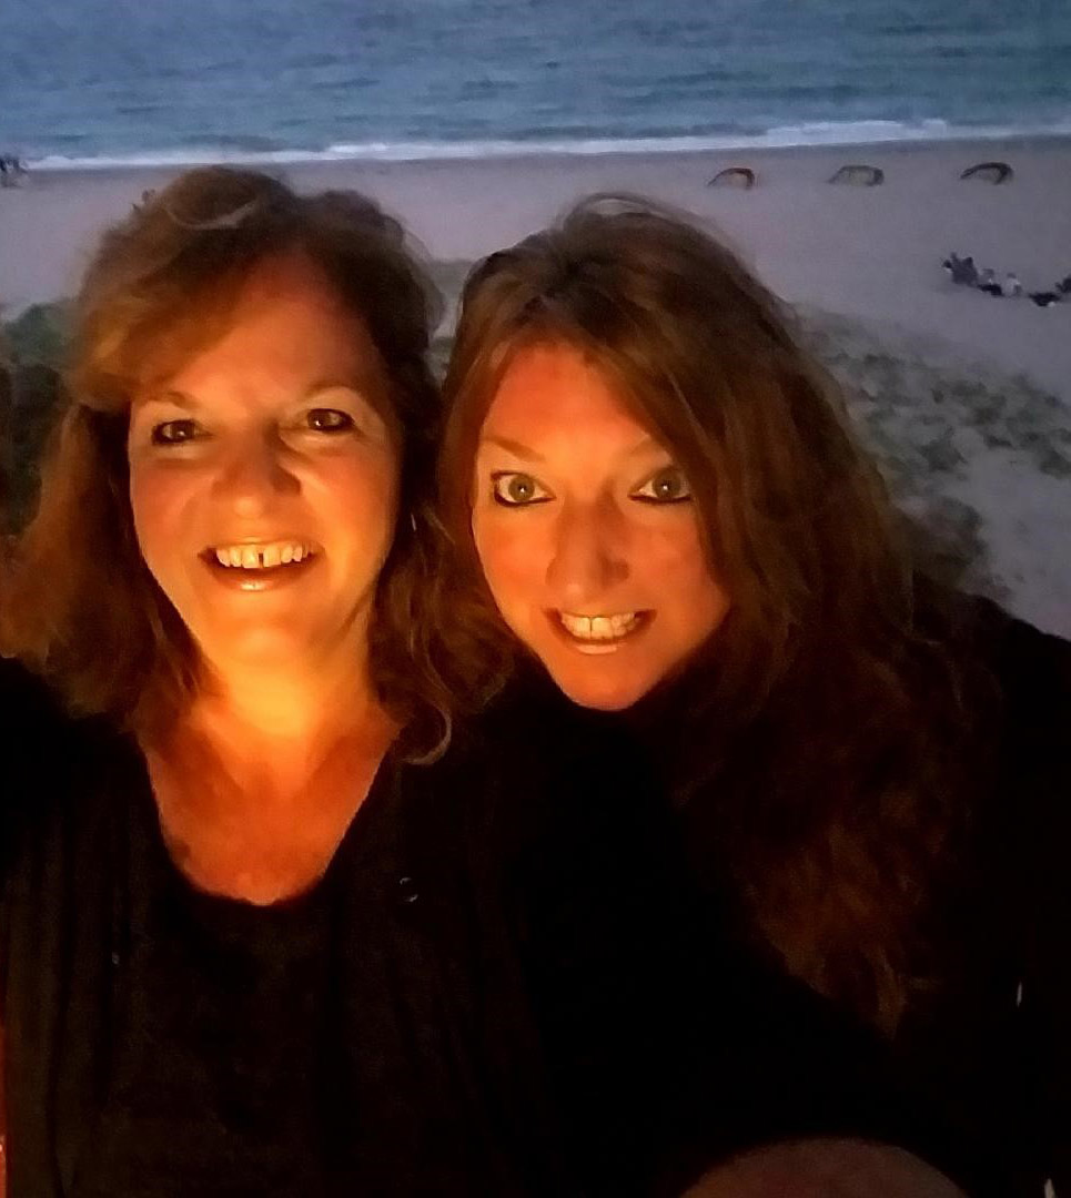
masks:
<svg viewBox="0 0 1071 1198"><path fill-rule="evenodd" d="M1010 163L1013 180L960 180L990 159ZM881 168L884 183L830 184L848 163ZM708 186L726 167L751 168L755 187ZM377 198L448 290L460 264L583 194L628 190L692 212L797 308L897 501L958 546L962 585L1071 635L1071 302L992 298L940 268L950 250L972 254L1028 291L1071 273L1071 140L278 169L303 188ZM101 228L174 174L42 171L0 190L5 315L68 295Z"/></svg>

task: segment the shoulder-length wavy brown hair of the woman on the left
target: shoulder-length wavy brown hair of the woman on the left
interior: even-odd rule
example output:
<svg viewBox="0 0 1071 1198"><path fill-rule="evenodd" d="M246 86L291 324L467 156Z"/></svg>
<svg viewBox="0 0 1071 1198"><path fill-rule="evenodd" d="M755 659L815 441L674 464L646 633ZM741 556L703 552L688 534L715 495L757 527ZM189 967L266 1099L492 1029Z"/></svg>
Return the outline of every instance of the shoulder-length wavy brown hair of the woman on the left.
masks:
<svg viewBox="0 0 1071 1198"><path fill-rule="evenodd" d="M149 355L167 371L211 344L252 270L292 252L362 317L391 382L383 415L401 448L403 519L380 579L370 662L380 697L423 751L449 726L449 696L409 643L428 568L426 521L416 518L440 415L428 365L440 301L398 222L353 192L299 195L266 174L204 168L104 234L74 304L69 401L36 515L5 545L0 648L53 680L73 709L129 726L170 719L192 697L192 639L134 534L131 399Z"/></svg>

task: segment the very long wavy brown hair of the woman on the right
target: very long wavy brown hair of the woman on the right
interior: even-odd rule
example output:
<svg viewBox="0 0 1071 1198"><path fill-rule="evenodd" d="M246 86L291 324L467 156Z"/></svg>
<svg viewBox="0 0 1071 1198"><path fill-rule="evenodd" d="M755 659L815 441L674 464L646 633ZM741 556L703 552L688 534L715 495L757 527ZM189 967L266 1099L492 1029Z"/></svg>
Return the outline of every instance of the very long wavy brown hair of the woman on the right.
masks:
<svg viewBox="0 0 1071 1198"><path fill-rule="evenodd" d="M471 531L477 442L513 356L580 349L670 449L731 610L643 700L697 864L745 926L885 1031L931 973L926 906L963 830L964 679L882 482L792 317L713 237L597 196L471 273L446 380L440 580L473 685L515 647Z"/></svg>

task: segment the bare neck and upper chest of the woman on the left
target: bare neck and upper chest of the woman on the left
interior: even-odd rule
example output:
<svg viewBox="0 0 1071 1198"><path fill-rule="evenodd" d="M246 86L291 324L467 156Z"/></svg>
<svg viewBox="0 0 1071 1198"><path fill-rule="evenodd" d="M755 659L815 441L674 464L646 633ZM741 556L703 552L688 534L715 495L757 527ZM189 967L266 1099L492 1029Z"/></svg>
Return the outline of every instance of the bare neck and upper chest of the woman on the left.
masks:
<svg viewBox="0 0 1071 1198"><path fill-rule="evenodd" d="M398 731L353 660L206 666L189 709L144 746L169 849L201 888L271 902L322 875Z"/></svg>

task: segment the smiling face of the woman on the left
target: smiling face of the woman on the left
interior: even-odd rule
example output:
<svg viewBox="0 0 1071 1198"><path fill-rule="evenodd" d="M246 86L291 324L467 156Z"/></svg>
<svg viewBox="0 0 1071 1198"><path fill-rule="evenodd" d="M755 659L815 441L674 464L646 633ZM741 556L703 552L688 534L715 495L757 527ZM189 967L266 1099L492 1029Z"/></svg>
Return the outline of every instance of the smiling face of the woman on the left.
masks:
<svg viewBox="0 0 1071 1198"><path fill-rule="evenodd" d="M223 337L139 389L138 543L212 666L361 660L397 510L388 406L364 322L298 255L255 267Z"/></svg>

